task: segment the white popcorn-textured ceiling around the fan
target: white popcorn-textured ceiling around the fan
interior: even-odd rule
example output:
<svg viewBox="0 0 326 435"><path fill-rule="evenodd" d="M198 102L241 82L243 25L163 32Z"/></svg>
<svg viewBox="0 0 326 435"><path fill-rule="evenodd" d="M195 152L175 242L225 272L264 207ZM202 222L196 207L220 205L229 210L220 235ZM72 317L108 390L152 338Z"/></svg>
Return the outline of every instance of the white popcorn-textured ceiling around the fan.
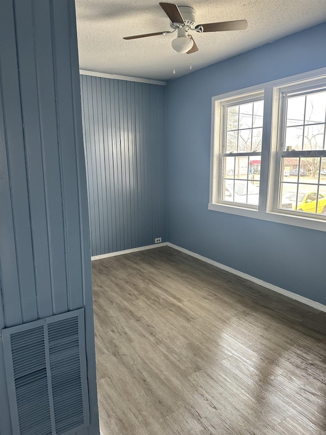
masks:
<svg viewBox="0 0 326 435"><path fill-rule="evenodd" d="M170 3L173 3L170 2ZM189 72L190 55L175 53L172 35L124 40L170 30L154 0L75 0L80 69L169 80ZM192 32L199 52L193 71L326 21L326 0L180 0L197 9L197 23L248 20L248 29ZM175 69L173 62L175 53Z"/></svg>

